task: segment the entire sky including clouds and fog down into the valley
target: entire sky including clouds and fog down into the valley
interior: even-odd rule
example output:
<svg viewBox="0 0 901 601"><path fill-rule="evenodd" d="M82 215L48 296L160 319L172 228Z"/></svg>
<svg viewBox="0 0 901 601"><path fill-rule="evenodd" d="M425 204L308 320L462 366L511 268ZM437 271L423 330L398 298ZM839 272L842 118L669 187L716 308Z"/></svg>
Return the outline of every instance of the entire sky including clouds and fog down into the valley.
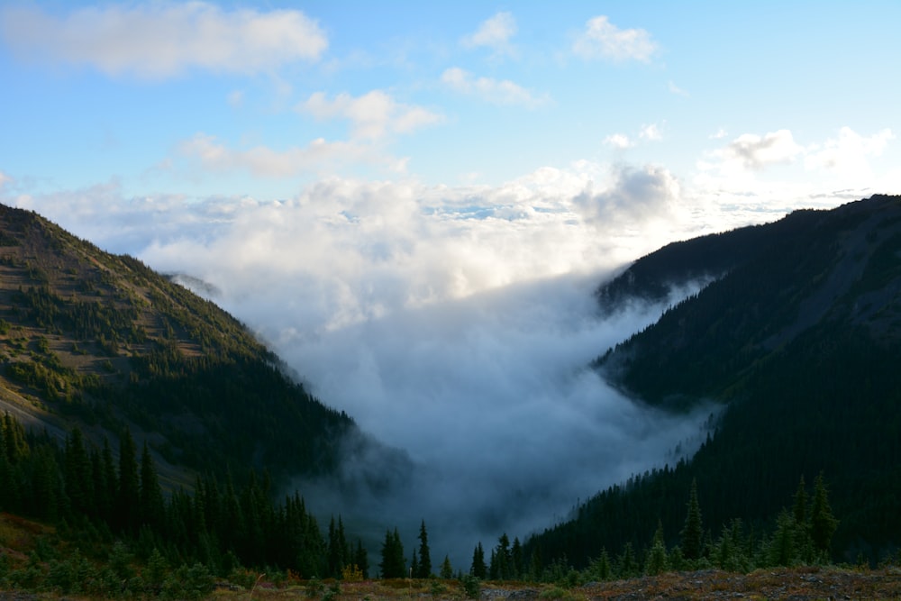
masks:
<svg viewBox="0 0 901 601"><path fill-rule="evenodd" d="M888 1L6 0L0 202L205 281L432 478L347 511L488 545L703 428L584 369L662 308L597 314L605 278L901 193L897 23Z"/></svg>

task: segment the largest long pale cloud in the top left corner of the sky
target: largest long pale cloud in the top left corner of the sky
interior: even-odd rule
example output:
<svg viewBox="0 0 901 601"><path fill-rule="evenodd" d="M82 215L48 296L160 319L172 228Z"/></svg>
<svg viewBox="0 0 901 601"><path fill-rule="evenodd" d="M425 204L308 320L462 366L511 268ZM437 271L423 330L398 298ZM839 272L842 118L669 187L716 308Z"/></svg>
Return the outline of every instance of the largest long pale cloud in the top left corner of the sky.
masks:
<svg viewBox="0 0 901 601"><path fill-rule="evenodd" d="M189 69L250 74L317 60L328 46L319 25L296 10L226 11L205 2L0 13L5 41L23 56L86 64L111 76L177 76Z"/></svg>

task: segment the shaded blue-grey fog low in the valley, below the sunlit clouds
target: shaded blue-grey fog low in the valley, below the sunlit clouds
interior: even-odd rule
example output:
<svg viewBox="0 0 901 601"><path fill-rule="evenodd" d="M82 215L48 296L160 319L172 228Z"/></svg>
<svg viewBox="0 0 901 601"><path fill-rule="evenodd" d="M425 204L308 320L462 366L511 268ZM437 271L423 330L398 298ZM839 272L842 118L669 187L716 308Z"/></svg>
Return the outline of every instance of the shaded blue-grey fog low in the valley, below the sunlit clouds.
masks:
<svg viewBox="0 0 901 601"><path fill-rule="evenodd" d="M524 541L578 499L693 451L711 407L662 414L587 369L662 308L602 316L597 281L549 278L281 341L317 396L412 460L392 464L402 473L389 490L373 489L361 472L381 458L349 452L341 486L296 483L308 504L350 517L376 551L394 526L409 551L424 519L432 560L448 553L469 569L477 542Z"/></svg>

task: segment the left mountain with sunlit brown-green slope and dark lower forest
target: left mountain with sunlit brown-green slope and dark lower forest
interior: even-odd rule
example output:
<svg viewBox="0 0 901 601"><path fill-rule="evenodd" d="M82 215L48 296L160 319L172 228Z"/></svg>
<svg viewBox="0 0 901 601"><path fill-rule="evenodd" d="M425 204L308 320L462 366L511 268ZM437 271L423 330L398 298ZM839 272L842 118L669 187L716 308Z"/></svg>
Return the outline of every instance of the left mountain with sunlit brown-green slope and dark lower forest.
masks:
<svg viewBox="0 0 901 601"><path fill-rule="evenodd" d="M0 413L95 442L123 427L169 479L330 473L350 417L216 305L38 214L0 206ZM359 438L359 437L357 437Z"/></svg>

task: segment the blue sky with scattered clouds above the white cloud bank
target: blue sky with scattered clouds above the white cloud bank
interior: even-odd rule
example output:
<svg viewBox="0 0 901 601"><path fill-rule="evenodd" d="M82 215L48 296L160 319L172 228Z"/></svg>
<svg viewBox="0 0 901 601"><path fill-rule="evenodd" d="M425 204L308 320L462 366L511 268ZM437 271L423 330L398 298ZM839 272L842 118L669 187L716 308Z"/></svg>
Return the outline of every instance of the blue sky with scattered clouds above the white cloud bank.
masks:
<svg viewBox="0 0 901 601"><path fill-rule="evenodd" d="M899 12L8 2L0 170L20 194L279 199L331 176L498 187L588 161L662 166L705 195L746 136L754 184L884 190Z"/></svg>

